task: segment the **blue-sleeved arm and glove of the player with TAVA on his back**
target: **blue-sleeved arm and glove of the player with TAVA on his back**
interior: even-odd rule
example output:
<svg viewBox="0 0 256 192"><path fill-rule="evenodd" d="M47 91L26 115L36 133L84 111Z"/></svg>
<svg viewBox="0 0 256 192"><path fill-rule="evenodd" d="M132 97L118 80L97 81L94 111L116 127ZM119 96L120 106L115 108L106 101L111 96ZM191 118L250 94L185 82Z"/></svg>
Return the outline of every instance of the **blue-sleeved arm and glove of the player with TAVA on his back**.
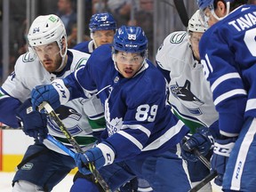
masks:
<svg viewBox="0 0 256 192"><path fill-rule="evenodd" d="M224 35L215 36L212 39L211 34L209 36L206 31L199 43L204 75L210 82L213 102L220 116L219 125L222 136L220 135L220 138L214 142L211 160L212 172L218 172L214 182L220 186L228 157L244 124L247 101L244 83L240 71L236 69L234 53L230 52L227 41L227 36ZM217 46L218 49L216 49Z"/></svg>

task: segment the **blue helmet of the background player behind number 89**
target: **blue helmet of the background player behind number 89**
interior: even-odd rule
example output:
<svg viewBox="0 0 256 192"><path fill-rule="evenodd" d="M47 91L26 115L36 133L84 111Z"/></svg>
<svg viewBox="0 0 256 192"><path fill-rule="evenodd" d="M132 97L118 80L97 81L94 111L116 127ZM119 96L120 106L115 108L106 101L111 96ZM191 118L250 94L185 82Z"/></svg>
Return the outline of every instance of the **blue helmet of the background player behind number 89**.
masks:
<svg viewBox="0 0 256 192"><path fill-rule="evenodd" d="M96 13L92 15L89 23L91 33L97 30L116 30L116 20L108 13Z"/></svg>

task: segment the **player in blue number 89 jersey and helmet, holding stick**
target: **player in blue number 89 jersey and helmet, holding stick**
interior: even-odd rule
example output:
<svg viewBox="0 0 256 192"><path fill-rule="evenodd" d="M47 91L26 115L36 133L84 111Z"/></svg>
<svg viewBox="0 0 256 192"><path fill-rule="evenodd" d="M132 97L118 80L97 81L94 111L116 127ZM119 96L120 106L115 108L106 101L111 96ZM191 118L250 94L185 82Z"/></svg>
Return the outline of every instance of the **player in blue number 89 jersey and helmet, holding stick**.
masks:
<svg viewBox="0 0 256 192"><path fill-rule="evenodd" d="M176 154L188 127L172 115L164 76L147 60L147 45L140 27L117 29L114 44L94 50L83 69L36 87L33 108L44 100L57 108L76 97L98 94L107 121L105 140L76 154L79 171L90 173L83 164L93 162L112 190L139 176L154 191L188 191L185 164ZM93 183L88 180L87 185Z"/></svg>

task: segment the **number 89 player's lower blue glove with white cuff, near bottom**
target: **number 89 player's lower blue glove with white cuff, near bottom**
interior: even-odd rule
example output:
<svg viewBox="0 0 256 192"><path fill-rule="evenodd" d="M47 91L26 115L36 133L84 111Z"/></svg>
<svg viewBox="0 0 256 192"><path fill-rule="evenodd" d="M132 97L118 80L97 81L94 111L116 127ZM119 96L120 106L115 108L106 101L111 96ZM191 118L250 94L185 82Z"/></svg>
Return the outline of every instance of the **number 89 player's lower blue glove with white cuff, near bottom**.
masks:
<svg viewBox="0 0 256 192"><path fill-rule="evenodd" d="M89 163L94 164L96 169L102 166L112 164L115 158L115 152L107 143L103 142L97 145L96 148L91 148L85 151L84 154L76 153L75 162L79 172L90 174L91 171L87 166Z"/></svg>

